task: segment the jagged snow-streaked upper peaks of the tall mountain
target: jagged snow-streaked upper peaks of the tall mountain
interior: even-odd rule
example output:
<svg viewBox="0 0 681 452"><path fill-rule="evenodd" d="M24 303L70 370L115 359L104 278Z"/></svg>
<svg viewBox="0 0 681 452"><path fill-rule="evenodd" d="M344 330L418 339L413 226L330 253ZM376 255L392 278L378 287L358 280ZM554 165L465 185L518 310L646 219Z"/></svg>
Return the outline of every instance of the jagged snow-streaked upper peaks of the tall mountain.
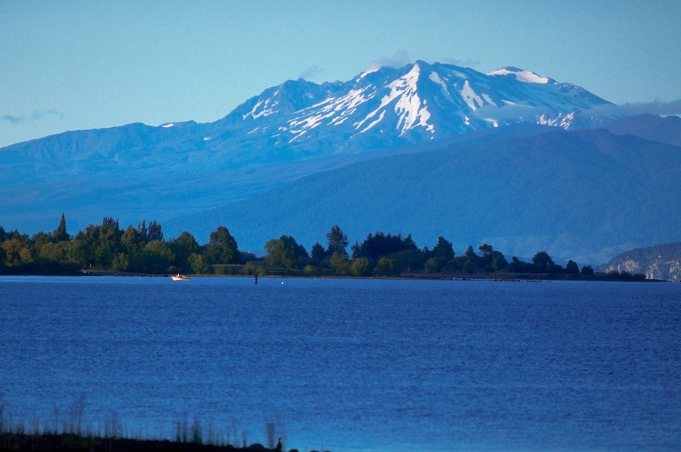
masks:
<svg viewBox="0 0 681 452"><path fill-rule="evenodd" d="M218 138L216 149L237 141L303 155L361 152L518 122L584 128L602 121L588 110L608 103L574 84L515 67L482 74L417 61L347 82L289 80L214 123L209 139Z"/></svg>

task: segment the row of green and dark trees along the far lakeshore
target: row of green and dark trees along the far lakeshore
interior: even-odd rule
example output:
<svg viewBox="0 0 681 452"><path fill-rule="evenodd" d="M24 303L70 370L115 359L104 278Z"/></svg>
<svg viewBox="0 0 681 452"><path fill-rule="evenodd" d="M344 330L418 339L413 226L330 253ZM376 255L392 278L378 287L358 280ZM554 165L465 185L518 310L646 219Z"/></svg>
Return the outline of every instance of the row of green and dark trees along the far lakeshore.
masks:
<svg viewBox="0 0 681 452"><path fill-rule="evenodd" d="M32 236L0 226L0 274L81 275L119 273L167 275L300 275L344 277L422 277L443 275L489 278L535 278L573 280L645 280L643 274L609 271L597 273L590 265L579 267L568 260L565 266L546 251L535 253L531 262L516 256L509 262L501 251L483 243L469 245L460 256L452 242L440 236L437 243L418 247L411 234L369 233L349 247L347 235L334 225L326 234L326 246L316 242L308 252L294 237L271 238L265 256L239 251L227 227L211 232L209 242L199 245L183 231L165 240L159 223L142 221L126 229L105 217L78 234L67 233L65 215L54 231ZM348 251L349 247L349 251Z"/></svg>

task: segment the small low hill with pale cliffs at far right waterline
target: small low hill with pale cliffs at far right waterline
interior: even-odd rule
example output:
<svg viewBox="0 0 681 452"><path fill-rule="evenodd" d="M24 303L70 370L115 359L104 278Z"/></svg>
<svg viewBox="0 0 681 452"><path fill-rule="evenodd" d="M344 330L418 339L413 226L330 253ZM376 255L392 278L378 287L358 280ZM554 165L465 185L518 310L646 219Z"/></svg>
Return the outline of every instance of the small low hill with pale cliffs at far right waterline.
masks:
<svg viewBox="0 0 681 452"><path fill-rule="evenodd" d="M681 282L681 242L625 251L600 269L645 273L648 279Z"/></svg>

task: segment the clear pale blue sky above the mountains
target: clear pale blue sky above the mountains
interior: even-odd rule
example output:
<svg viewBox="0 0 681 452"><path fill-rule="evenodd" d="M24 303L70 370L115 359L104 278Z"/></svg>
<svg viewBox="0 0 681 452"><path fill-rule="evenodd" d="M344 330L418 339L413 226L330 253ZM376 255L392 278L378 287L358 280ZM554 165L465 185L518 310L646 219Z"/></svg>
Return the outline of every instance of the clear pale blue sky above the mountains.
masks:
<svg viewBox="0 0 681 452"><path fill-rule="evenodd" d="M0 146L212 122L288 79L417 59L521 67L616 104L681 99L680 0L0 0L0 24Z"/></svg>

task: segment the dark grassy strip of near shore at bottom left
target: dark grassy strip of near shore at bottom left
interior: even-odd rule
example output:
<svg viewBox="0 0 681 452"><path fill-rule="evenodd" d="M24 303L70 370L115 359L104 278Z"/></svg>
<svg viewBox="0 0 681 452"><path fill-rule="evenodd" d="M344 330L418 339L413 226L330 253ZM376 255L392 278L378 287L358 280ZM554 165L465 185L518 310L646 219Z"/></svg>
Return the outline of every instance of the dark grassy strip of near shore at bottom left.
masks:
<svg viewBox="0 0 681 452"><path fill-rule="evenodd" d="M26 434L0 433L0 451L82 451L82 452L270 452L255 443L249 447L218 446L200 442L176 442L170 440L132 440L126 438L100 438L75 433ZM298 452L289 449L288 452ZM316 451L310 451L316 452Z"/></svg>

